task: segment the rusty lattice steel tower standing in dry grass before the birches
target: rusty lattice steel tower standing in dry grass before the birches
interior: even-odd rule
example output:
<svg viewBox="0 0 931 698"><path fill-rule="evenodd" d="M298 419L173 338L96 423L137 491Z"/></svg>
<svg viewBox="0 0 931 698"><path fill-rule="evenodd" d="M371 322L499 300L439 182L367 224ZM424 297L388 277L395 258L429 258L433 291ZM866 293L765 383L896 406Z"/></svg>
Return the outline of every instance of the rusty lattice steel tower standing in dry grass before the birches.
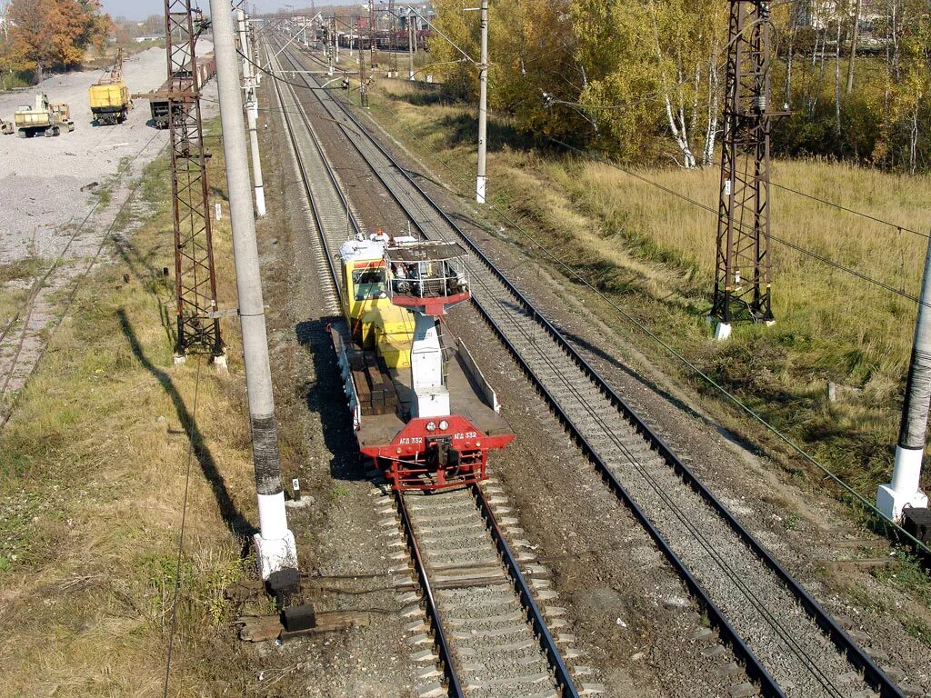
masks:
<svg viewBox="0 0 931 698"><path fill-rule="evenodd" d="M714 307L730 323L773 320L769 167L769 0L730 0Z"/></svg>

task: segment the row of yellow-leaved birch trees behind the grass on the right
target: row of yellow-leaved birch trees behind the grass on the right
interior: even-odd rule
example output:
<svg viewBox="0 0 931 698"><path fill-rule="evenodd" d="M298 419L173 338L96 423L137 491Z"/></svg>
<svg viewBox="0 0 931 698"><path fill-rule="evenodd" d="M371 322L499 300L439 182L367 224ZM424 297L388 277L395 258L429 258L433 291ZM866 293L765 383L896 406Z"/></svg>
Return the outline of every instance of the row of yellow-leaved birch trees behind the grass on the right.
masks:
<svg viewBox="0 0 931 698"><path fill-rule="evenodd" d="M475 3L472 3L474 5ZM479 13L436 0L479 55ZM490 105L515 126L637 162L707 167L720 139L727 0L492 0ZM773 3L774 150L931 168L927 0ZM474 99L475 67L445 41L437 71Z"/></svg>

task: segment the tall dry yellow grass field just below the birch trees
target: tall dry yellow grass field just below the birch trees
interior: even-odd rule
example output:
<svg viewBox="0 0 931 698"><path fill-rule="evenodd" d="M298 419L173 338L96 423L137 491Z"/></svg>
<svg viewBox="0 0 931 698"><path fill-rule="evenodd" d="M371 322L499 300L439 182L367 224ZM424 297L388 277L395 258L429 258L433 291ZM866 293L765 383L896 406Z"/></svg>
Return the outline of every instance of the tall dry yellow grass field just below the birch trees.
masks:
<svg viewBox="0 0 931 698"><path fill-rule="evenodd" d="M650 257L679 262L710 289L715 218L688 202L600 164L551 171L573 202L603 223L608 242L633 245ZM718 172L656 170L650 179L712 208ZM928 178L906 178L823 162L780 161L773 181L920 230L931 213L922 195ZM773 234L829 257L896 289L917 295L927 240L895 228L773 190ZM773 244L774 312L780 322L818 337L843 337L861 361L901 371L911 346L914 302ZM707 291L706 291L707 292ZM855 367L850 365L851 369Z"/></svg>

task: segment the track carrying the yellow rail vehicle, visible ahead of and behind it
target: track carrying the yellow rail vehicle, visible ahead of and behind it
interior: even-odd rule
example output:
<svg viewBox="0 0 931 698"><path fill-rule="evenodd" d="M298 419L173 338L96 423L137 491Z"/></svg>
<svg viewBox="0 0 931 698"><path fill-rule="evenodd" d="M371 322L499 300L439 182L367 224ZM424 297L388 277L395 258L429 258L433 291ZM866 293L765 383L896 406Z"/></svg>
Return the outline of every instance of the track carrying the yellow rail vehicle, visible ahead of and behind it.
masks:
<svg viewBox="0 0 931 698"><path fill-rule="evenodd" d="M275 88L311 201L308 214L322 243L326 262L321 264L328 267L321 277L329 276L335 289L326 310L336 315L336 294L342 290L333 254L346 239L347 229L355 234L364 233L364 228L293 88L278 83ZM495 497L490 501L474 487L441 495L396 493L394 502L427 618L427 624L417 627L423 634L410 641L414 646L434 647L443 666L442 675L429 666L422 672L425 683L419 694L424 698L447 694L463 698L466 692L476 698L578 696L546 618L547 612L561 610L538 606L519 556L511 551L494 515ZM534 566L530 570L543 571ZM432 650L424 652L424 659L434 657ZM587 694L596 692L600 691L593 685L587 687Z"/></svg>

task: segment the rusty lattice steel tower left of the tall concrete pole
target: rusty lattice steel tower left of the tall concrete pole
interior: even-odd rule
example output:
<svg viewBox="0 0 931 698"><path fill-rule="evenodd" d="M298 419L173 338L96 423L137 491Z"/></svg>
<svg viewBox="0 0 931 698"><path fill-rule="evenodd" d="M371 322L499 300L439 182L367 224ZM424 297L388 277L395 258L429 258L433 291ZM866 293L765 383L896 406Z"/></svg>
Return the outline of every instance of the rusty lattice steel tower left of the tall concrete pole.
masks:
<svg viewBox="0 0 931 698"><path fill-rule="evenodd" d="M190 0L165 0L165 24L178 312L175 356L222 356L220 320L210 316L217 310L217 283L195 50L207 22Z"/></svg>

